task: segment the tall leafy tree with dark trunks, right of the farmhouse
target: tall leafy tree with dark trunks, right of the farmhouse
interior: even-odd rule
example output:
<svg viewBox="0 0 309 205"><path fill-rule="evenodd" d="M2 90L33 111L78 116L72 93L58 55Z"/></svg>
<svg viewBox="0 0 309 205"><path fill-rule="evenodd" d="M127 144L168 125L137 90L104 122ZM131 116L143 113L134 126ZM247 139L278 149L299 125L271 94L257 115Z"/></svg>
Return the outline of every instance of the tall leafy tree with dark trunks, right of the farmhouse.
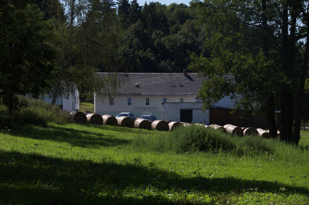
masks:
<svg viewBox="0 0 309 205"><path fill-rule="evenodd" d="M200 91L204 108L230 95L236 109L265 114L270 135L276 137L274 111L281 102L280 137L291 140L297 6L266 0L205 0L193 5L209 36L204 46L211 50L210 58L191 56L195 63L190 68L209 76Z"/></svg>

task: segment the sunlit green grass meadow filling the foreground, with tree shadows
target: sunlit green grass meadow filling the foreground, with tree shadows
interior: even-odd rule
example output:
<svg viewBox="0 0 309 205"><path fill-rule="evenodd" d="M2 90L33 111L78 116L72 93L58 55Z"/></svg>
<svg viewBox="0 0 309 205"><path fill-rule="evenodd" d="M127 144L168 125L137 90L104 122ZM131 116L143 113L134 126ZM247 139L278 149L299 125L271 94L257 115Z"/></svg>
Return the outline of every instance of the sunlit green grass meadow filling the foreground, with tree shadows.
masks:
<svg viewBox="0 0 309 205"><path fill-rule="evenodd" d="M309 202L307 146L270 141L274 153L243 155L151 149L156 139L163 144L170 137L171 132L90 124L4 129L0 204Z"/></svg>

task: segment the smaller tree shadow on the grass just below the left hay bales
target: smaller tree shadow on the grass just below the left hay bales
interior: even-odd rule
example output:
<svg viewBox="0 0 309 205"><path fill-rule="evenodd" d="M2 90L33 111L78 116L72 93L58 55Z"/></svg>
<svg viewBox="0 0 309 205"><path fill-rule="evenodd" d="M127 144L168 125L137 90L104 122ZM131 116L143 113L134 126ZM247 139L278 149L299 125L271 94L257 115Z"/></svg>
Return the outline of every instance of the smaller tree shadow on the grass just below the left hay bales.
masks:
<svg viewBox="0 0 309 205"><path fill-rule="evenodd" d="M79 127L80 126L80 127ZM90 128L89 131L85 131L84 127ZM79 129L79 128L83 128ZM93 129L94 130L91 130ZM97 132L99 129L104 132ZM37 140L51 140L57 142L67 142L72 146L119 146L128 144L129 140L121 139L119 131L132 132L129 128L119 128L116 126L108 125L91 125L91 124L79 124L74 128L65 126L58 126L55 124L49 124L47 127L26 127L12 130L10 135L22 136ZM137 130L136 133L142 132Z"/></svg>

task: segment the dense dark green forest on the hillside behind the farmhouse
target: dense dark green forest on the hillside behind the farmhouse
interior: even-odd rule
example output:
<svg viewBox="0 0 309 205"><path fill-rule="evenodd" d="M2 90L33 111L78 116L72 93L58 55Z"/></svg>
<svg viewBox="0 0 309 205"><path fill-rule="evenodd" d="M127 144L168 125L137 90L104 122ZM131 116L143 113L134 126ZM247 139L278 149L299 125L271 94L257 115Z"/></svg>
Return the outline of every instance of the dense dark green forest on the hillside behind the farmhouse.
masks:
<svg viewBox="0 0 309 205"><path fill-rule="evenodd" d="M44 11L44 19L67 18L63 5L59 5L58 11L55 9L57 1L37 0L36 4ZM200 54L202 51L205 31L195 26L192 7L183 3L167 6L159 2L139 5L136 0L108 1L108 7L116 13L118 23L122 25L118 36L121 48L116 51L117 57L110 56L109 59L116 71L182 72L190 63L189 52ZM110 65L101 61L98 69L109 72L113 70Z"/></svg>

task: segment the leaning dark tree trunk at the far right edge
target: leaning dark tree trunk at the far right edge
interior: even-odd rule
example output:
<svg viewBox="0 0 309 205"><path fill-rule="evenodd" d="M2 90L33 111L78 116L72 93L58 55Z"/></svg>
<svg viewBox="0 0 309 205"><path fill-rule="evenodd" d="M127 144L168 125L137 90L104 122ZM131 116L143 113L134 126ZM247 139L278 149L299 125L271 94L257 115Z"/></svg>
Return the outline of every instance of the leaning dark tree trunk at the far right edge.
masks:
<svg viewBox="0 0 309 205"><path fill-rule="evenodd" d="M307 24L308 25L308 24ZM302 72L299 78L299 90L297 94L298 102L297 102L297 111L295 116L294 122L294 132L293 132L293 141L295 144L298 144L300 140L300 125L302 123L303 118L303 106L304 106L304 89L305 89L305 81L306 81L306 74L308 69L308 61L309 61L309 29L307 28L307 41L306 41L306 48L304 53L304 64L302 68Z"/></svg>

